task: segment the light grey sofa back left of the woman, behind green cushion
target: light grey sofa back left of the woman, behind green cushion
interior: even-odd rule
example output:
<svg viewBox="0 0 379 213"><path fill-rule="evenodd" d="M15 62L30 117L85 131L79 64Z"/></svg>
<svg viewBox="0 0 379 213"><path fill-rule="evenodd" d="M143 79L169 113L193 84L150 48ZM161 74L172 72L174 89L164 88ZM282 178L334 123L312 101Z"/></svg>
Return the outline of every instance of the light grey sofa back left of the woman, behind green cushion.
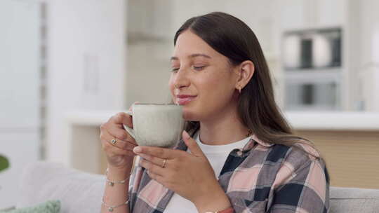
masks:
<svg viewBox="0 0 379 213"><path fill-rule="evenodd" d="M105 176L58 163L29 163L23 170L17 207L60 200L61 212L100 212Z"/></svg>

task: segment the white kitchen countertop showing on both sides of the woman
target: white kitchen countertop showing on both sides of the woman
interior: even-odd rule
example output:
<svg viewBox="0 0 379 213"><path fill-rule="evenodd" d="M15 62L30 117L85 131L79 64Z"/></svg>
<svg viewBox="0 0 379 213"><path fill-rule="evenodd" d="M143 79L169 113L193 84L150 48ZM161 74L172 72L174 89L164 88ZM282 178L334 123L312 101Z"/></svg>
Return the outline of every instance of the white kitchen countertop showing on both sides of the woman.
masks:
<svg viewBox="0 0 379 213"><path fill-rule="evenodd" d="M66 121L71 125L101 125L119 111L71 111ZM365 130L379 131L379 112L359 111L286 111L284 116L295 130Z"/></svg>

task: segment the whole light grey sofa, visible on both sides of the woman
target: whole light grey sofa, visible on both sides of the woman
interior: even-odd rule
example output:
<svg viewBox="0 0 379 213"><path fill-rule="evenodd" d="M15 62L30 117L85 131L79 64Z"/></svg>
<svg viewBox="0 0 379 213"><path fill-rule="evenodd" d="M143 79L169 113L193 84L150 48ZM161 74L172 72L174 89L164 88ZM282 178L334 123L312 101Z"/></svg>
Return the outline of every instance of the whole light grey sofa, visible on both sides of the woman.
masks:
<svg viewBox="0 0 379 213"><path fill-rule="evenodd" d="M46 200L60 200L61 212L100 212L105 176L89 174L57 163L37 162L25 166L17 207ZM331 187L331 213L379 212L379 190Z"/></svg>

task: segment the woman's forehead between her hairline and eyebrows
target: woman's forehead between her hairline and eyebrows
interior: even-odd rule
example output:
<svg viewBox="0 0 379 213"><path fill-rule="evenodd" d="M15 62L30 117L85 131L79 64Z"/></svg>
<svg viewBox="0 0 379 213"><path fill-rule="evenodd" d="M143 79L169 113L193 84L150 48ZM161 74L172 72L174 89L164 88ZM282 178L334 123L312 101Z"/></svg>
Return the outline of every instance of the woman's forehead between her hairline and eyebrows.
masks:
<svg viewBox="0 0 379 213"><path fill-rule="evenodd" d="M185 32L182 32L176 40L173 57L184 59L194 54L205 54L212 58L220 57L221 55L209 46L203 39L197 36L197 34L186 30Z"/></svg>

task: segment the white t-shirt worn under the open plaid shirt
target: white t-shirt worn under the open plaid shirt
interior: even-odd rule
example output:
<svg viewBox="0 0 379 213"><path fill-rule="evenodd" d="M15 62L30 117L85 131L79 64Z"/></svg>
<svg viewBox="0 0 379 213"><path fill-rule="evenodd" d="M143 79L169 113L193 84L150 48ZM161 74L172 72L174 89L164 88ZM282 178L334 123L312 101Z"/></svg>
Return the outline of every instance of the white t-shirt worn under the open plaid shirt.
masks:
<svg viewBox="0 0 379 213"><path fill-rule="evenodd" d="M232 151L233 149L244 148L245 144L250 140L250 138L251 137L246 137L245 139L242 139L239 142L234 142L225 145L207 145L201 143L199 139L199 131L194 135L194 139L196 140L197 144L199 144L206 158L208 158L209 163L211 163L211 166L215 171L215 175L217 178L220 175L222 166L224 165L225 160L227 159L227 156L229 155L230 151ZM187 149L187 151L190 152L189 149ZM182 198L177 193L174 193L173 197L168 202L166 209L164 209L164 213L176 213L178 212L178 210L180 210L180 212L183 213L197 212L195 205L191 201Z"/></svg>

